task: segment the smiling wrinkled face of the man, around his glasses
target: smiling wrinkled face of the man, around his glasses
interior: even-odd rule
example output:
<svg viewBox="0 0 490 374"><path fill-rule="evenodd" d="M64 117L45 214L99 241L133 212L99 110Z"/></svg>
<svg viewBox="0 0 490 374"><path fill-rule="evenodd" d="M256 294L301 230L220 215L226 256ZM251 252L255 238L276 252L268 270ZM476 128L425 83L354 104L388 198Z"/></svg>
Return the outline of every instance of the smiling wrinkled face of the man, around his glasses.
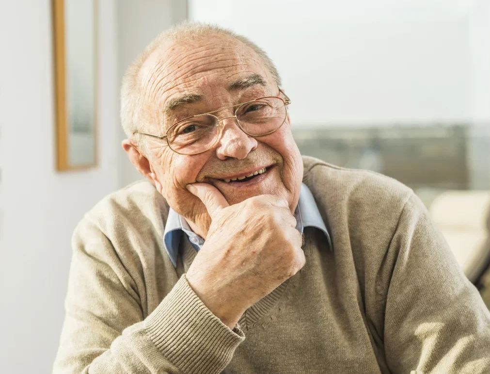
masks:
<svg viewBox="0 0 490 374"><path fill-rule="evenodd" d="M252 75L262 77L263 83L250 84L246 78ZM192 115L261 97L283 97L270 72L251 49L219 35L177 42L156 50L142 66L140 78L141 129L159 135ZM249 83L243 84L245 81ZM232 85L234 82L239 84ZM174 105L183 96L187 100L179 100L180 104ZM233 116L234 109L215 115ZM161 192L170 206L191 222L207 225L205 231L210 218L204 204L186 189L189 183L215 186L230 205L264 194L286 199L292 210L297 204L303 164L289 117L277 131L256 138L245 134L235 118L225 119L221 121L219 141L213 148L195 155L175 153L165 140L147 137L143 141L147 144L146 156L155 182L162 186ZM245 181L223 180L264 168L265 173Z"/></svg>

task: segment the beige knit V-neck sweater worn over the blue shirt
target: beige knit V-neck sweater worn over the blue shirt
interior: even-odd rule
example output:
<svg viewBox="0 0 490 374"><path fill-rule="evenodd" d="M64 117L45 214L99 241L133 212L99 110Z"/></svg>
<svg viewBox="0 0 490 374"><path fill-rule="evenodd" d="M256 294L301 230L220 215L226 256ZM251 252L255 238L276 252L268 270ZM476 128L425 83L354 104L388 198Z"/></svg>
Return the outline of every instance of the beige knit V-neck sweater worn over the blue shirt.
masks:
<svg viewBox="0 0 490 374"><path fill-rule="evenodd" d="M333 251L306 228L304 268L233 330L189 286L188 240L172 266L151 184L98 203L74 232L54 373L490 373L490 313L412 191L303 162Z"/></svg>

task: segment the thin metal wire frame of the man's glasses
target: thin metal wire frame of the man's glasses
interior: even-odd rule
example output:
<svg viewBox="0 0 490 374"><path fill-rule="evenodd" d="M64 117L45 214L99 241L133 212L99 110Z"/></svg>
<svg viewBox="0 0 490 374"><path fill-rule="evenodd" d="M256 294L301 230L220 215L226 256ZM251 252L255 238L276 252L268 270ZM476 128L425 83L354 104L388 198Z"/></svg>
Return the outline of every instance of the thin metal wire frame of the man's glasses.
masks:
<svg viewBox="0 0 490 374"><path fill-rule="evenodd" d="M205 152L206 150L210 150L211 148L213 148L216 143L218 143L218 141L221 139L221 132L222 132L222 129L223 129L223 126L221 125L221 121L222 120L225 120L227 118L235 118L235 122L236 124L238 125L238 127L240 127L240 129L245 132L245 134L247 134L248 136L251 136L253 138L257 138L257 137L261 137L261 136L266 136L266 135L269 135L269 134L272 134L274 131L277 131L278 129L281 128L282 125L284 125L284 123L286 122L286 118L288 118L288 104L291 104L291 100L289 99L289 97L284 93L283 90L279 89L279 93L282 94L284 96L284 99L279 97L279 96L264 96L264 97L261 97L261 98L257 98L257 99L253 99L253 100L249 100L249 101L245 101L245 102L242 102L240 104L235 104L235 105L230 105L230 106L226 106L224 108L220 108L220 109L216 109L216 110L212 110L211 112L206 112L206 113L201 113L201 114L196 114L194 116L190 116L190 117L187 117L187 118L184 118L183 120L180 120L176 123L174 123L172 126L170 126L167 131L165 132L165 135L154 135L154 134L149 134L147 132L143 132L143 131L134 131L133 132L133 135L134 134L142 134L142 135L147 135L147 136L151 136L152 138L157 138L159 140L164 140L166 139L167 140L167 145L169 146L169 148L177 153L177 154L182 154L182 155L186 155L186 156L191 156L193 154L199 154L199 153L202 153L202 152ZM284 117L284 120L282 121L282 124L279 125L275 130L272 130L272 131L269 131L268 133L265 133L265 134L261 134L261 135L252 135L248 132L246 132L244 130L244 128L242 127L242 125L240 125L240 121L238 120L237 118L237 111L240 109L240 107L242 107L243 105L245 104L249 104L253 101L257 101L257 100L261 100L261 99L279 99L281 100L283 103L284 103L284 107L286 108L286 116ZM228 117L223 117L223 118L218 118L217 116L215 116L213 113L217 113L217 112L221 112L221 110L225 110L225 109L229 109L229 108L234 108L234 107L237 107L235 109L235 111L233 112L233 116L228 116ZM210 116L213 116L214 118L216 118L216 125L219 127L219 132L218 132L218 136L216 137L216 140L214 141L214 143L212 145L210 145L208 148L206 148L205 150L200 150L199 152L194 152L194 153L180 153L180 152L177 152L176 150L174 150L172 148L172 146L170 145L169 143L169 137L168 137L168 134L169 134L169 131L172 130L173 127L175 127L176 125L184 122L184 121L187 121L188 119L190 118L193 118L193 117L198 117L198 116L204 116L204 115L210 115Z"/></svg>

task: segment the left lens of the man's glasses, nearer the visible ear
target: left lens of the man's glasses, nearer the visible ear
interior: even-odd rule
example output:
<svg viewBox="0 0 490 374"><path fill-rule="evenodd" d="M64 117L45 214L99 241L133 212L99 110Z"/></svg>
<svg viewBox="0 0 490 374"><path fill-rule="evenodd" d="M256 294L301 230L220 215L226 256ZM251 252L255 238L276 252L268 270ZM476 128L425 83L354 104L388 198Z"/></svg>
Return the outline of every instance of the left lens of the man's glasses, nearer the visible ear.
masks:
<svg viewBox="0 0 490 374"><path fill-rule="evenodd" d="M211 148L218 135L216 117L203 114L173 125L167 131L167 140L177 153L193 154Z"/></svg>

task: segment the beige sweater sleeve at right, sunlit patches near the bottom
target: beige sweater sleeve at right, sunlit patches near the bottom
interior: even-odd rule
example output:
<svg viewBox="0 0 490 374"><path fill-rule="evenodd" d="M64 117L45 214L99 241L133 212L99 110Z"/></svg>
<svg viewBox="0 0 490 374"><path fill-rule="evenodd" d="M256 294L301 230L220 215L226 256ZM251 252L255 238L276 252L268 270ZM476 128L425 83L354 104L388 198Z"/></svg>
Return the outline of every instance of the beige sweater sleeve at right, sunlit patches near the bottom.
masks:
<svg viewBox="0 0 490 374"><path fill-rule="evenodd" d="M384 343L392 373L490 373L490 313L414 195L386 256Z"/></svg>

